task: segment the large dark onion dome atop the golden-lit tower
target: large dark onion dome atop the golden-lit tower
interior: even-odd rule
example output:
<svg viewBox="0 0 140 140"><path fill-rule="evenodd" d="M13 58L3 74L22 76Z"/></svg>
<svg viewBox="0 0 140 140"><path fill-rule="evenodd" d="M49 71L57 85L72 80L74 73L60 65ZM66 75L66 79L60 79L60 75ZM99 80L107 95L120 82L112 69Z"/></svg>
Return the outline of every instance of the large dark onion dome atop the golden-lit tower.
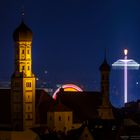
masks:
<svg viewBox="0 0 140 140"><path fill-rule="evenodd" d="M32 41L32 31L22 21L13 33L14 41Z"/></svg>

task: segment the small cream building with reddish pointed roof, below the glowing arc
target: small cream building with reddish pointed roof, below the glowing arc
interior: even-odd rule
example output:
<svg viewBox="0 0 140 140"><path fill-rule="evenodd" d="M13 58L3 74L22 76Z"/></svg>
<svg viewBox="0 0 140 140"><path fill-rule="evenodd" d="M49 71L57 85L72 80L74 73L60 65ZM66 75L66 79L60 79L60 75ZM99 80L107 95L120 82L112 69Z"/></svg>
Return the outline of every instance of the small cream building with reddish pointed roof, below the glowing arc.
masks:
<svg viewBox="0 0 140 140"><path fill-rule="evenodd" d="M73 111L64 106L57 98L47 112L47 126L57 132L67 132L71 129L79 128L81 123L73 122Z"/></svg>

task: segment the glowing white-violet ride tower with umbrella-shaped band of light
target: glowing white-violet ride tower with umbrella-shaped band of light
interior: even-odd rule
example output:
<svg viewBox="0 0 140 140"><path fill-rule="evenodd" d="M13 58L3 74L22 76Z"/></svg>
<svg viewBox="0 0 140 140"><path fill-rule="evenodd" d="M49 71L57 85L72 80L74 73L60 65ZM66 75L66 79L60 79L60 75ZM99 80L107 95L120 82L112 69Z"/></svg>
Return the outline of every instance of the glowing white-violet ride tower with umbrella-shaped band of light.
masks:
<svg viewBox="0 0 140 140"><path fill-rule="evenodd" d="M127 91L127 70L134 69L138 70L140 64L133 59L127 59L128 50L124 49L124 59L119 59L112 64L113 68L124 69L124 103L128 102L128 91Z"/></svg>

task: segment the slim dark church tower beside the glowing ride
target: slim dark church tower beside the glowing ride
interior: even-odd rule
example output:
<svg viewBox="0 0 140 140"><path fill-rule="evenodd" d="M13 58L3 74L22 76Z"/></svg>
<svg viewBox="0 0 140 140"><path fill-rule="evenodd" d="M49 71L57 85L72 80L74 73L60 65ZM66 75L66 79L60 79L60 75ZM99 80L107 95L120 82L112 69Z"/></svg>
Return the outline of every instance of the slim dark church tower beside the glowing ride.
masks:
<svg viewBox="0 0 140 140"><path fill-rule="evenodd" d="M110 65L107 63L106 57L104 59L104 62L100 66L100 72L102 104L98 109L99 117L101 119L114 119L112 106L109 100Z"/></svg>

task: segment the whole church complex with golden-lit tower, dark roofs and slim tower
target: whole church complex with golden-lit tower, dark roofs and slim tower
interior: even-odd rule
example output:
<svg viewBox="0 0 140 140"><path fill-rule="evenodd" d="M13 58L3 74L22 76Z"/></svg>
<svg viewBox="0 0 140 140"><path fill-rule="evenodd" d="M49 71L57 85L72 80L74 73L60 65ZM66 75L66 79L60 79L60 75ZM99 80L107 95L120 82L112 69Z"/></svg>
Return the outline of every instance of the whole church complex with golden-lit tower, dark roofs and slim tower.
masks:
<svg viewBox="0 0 140 140"><path fill-rule="evenodd" d="M0 89L0 130L8 130L3 133L6 138L9 135L7 139L13 132L26 131L38 124L63 131L78 128L87 120L114 119L109 100L110 66L106 58L100 66L101 92L61 90L57 97L60 102L54 110L51 105L56 106L56 101L44 89L36 88L36 77L32 72L32 31L24 21L14 31L13 40L11 88Z"/></svg>

